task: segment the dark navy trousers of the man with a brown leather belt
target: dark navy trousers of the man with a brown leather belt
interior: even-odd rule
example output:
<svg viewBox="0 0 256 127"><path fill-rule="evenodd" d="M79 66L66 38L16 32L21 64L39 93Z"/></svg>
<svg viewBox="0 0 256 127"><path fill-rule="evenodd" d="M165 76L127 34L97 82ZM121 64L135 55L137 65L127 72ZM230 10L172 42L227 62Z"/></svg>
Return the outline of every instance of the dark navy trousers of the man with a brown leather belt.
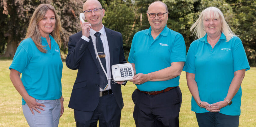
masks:
<svg viewBox="0 0 256 127"><path fill-rule="evenodd" d="M179 87L157 95L135 89L133 118L137 127L178 127L182 93Z"/></svg>

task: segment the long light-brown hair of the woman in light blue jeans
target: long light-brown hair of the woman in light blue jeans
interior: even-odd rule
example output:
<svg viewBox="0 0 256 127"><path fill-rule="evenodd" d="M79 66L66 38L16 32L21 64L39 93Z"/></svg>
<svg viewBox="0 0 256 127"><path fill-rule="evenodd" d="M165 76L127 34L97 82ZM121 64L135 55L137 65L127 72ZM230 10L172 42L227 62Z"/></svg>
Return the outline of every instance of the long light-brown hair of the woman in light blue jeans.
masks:
<svg viewBox="0 0 256 127"><path fill-rule="evenodd" d="M34 41L38 50L41 52L44 52L44 53L47 53L47 52L44 48L45 46L43 46L42 42L41 42L41 33L39 31L38 22L44 18L46 12L49 9L54 12L55 20L56 20L55 28L53 29L53 31L50 34L52 35L54 40L57 42L57 44L59 45L59 48L60 48L61 43L62 43L61 39L60 39L60 35L59 35L60 32L62 33L61 22L60 22L60 18L58 16L56 10L54 9L54 7L52 5L49 5L49 4L38 5L38 7L35 9L32 17L30 19L26 36L25 36L25 38L23 38L23 40L27 39L27 38L32 38L32 40Z"/></svg>

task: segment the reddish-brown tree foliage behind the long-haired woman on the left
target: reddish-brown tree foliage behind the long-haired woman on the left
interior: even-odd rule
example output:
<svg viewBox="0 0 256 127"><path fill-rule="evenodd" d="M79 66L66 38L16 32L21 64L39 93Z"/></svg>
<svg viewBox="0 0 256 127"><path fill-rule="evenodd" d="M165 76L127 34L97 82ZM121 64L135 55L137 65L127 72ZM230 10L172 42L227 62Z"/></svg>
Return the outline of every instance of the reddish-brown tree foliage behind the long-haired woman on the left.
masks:
<svg viewBox="0 0 256 127"><path fill-rule="evenodd" d="M29 20L39 4L51 4L62 20L63 33L61 47L67 53L69 36L80 28L78 15L82 12L82 0L1 0L1 33L0 53L13 57L18 43L25 37ZM7 48L5 49L5 46Z"/></svg>

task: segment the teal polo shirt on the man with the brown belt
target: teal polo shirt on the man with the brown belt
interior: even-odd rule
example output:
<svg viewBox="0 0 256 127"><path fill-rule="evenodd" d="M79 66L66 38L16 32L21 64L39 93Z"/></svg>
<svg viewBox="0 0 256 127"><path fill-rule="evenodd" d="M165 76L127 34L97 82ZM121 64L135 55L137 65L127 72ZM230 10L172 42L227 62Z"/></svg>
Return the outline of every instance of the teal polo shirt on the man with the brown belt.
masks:
<svg viewBox="0 0 256 127"><path fill-rule="evenodd" d="M155 40L151 35L151 27L139 31L132 39L128 61L135 64L137 74L159 71L170 67L172 62L186 62L184 38L180 33L166 26ZM179 76L166 81L136 84L139 90L147 92L160 91L178 85Z"/></svg>

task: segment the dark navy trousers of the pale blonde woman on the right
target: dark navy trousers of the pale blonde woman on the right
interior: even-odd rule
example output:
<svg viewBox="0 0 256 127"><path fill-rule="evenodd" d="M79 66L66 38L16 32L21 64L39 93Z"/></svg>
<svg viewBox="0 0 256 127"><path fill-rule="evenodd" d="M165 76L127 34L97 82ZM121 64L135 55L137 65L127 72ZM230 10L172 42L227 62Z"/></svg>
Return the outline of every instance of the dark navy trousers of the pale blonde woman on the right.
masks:
<svg viewBox="0 0 256 127"><path fill-rule="evenodd" d="M239 115L225 115L219 112L196 113L199 127L238 127Z"/></svg>

